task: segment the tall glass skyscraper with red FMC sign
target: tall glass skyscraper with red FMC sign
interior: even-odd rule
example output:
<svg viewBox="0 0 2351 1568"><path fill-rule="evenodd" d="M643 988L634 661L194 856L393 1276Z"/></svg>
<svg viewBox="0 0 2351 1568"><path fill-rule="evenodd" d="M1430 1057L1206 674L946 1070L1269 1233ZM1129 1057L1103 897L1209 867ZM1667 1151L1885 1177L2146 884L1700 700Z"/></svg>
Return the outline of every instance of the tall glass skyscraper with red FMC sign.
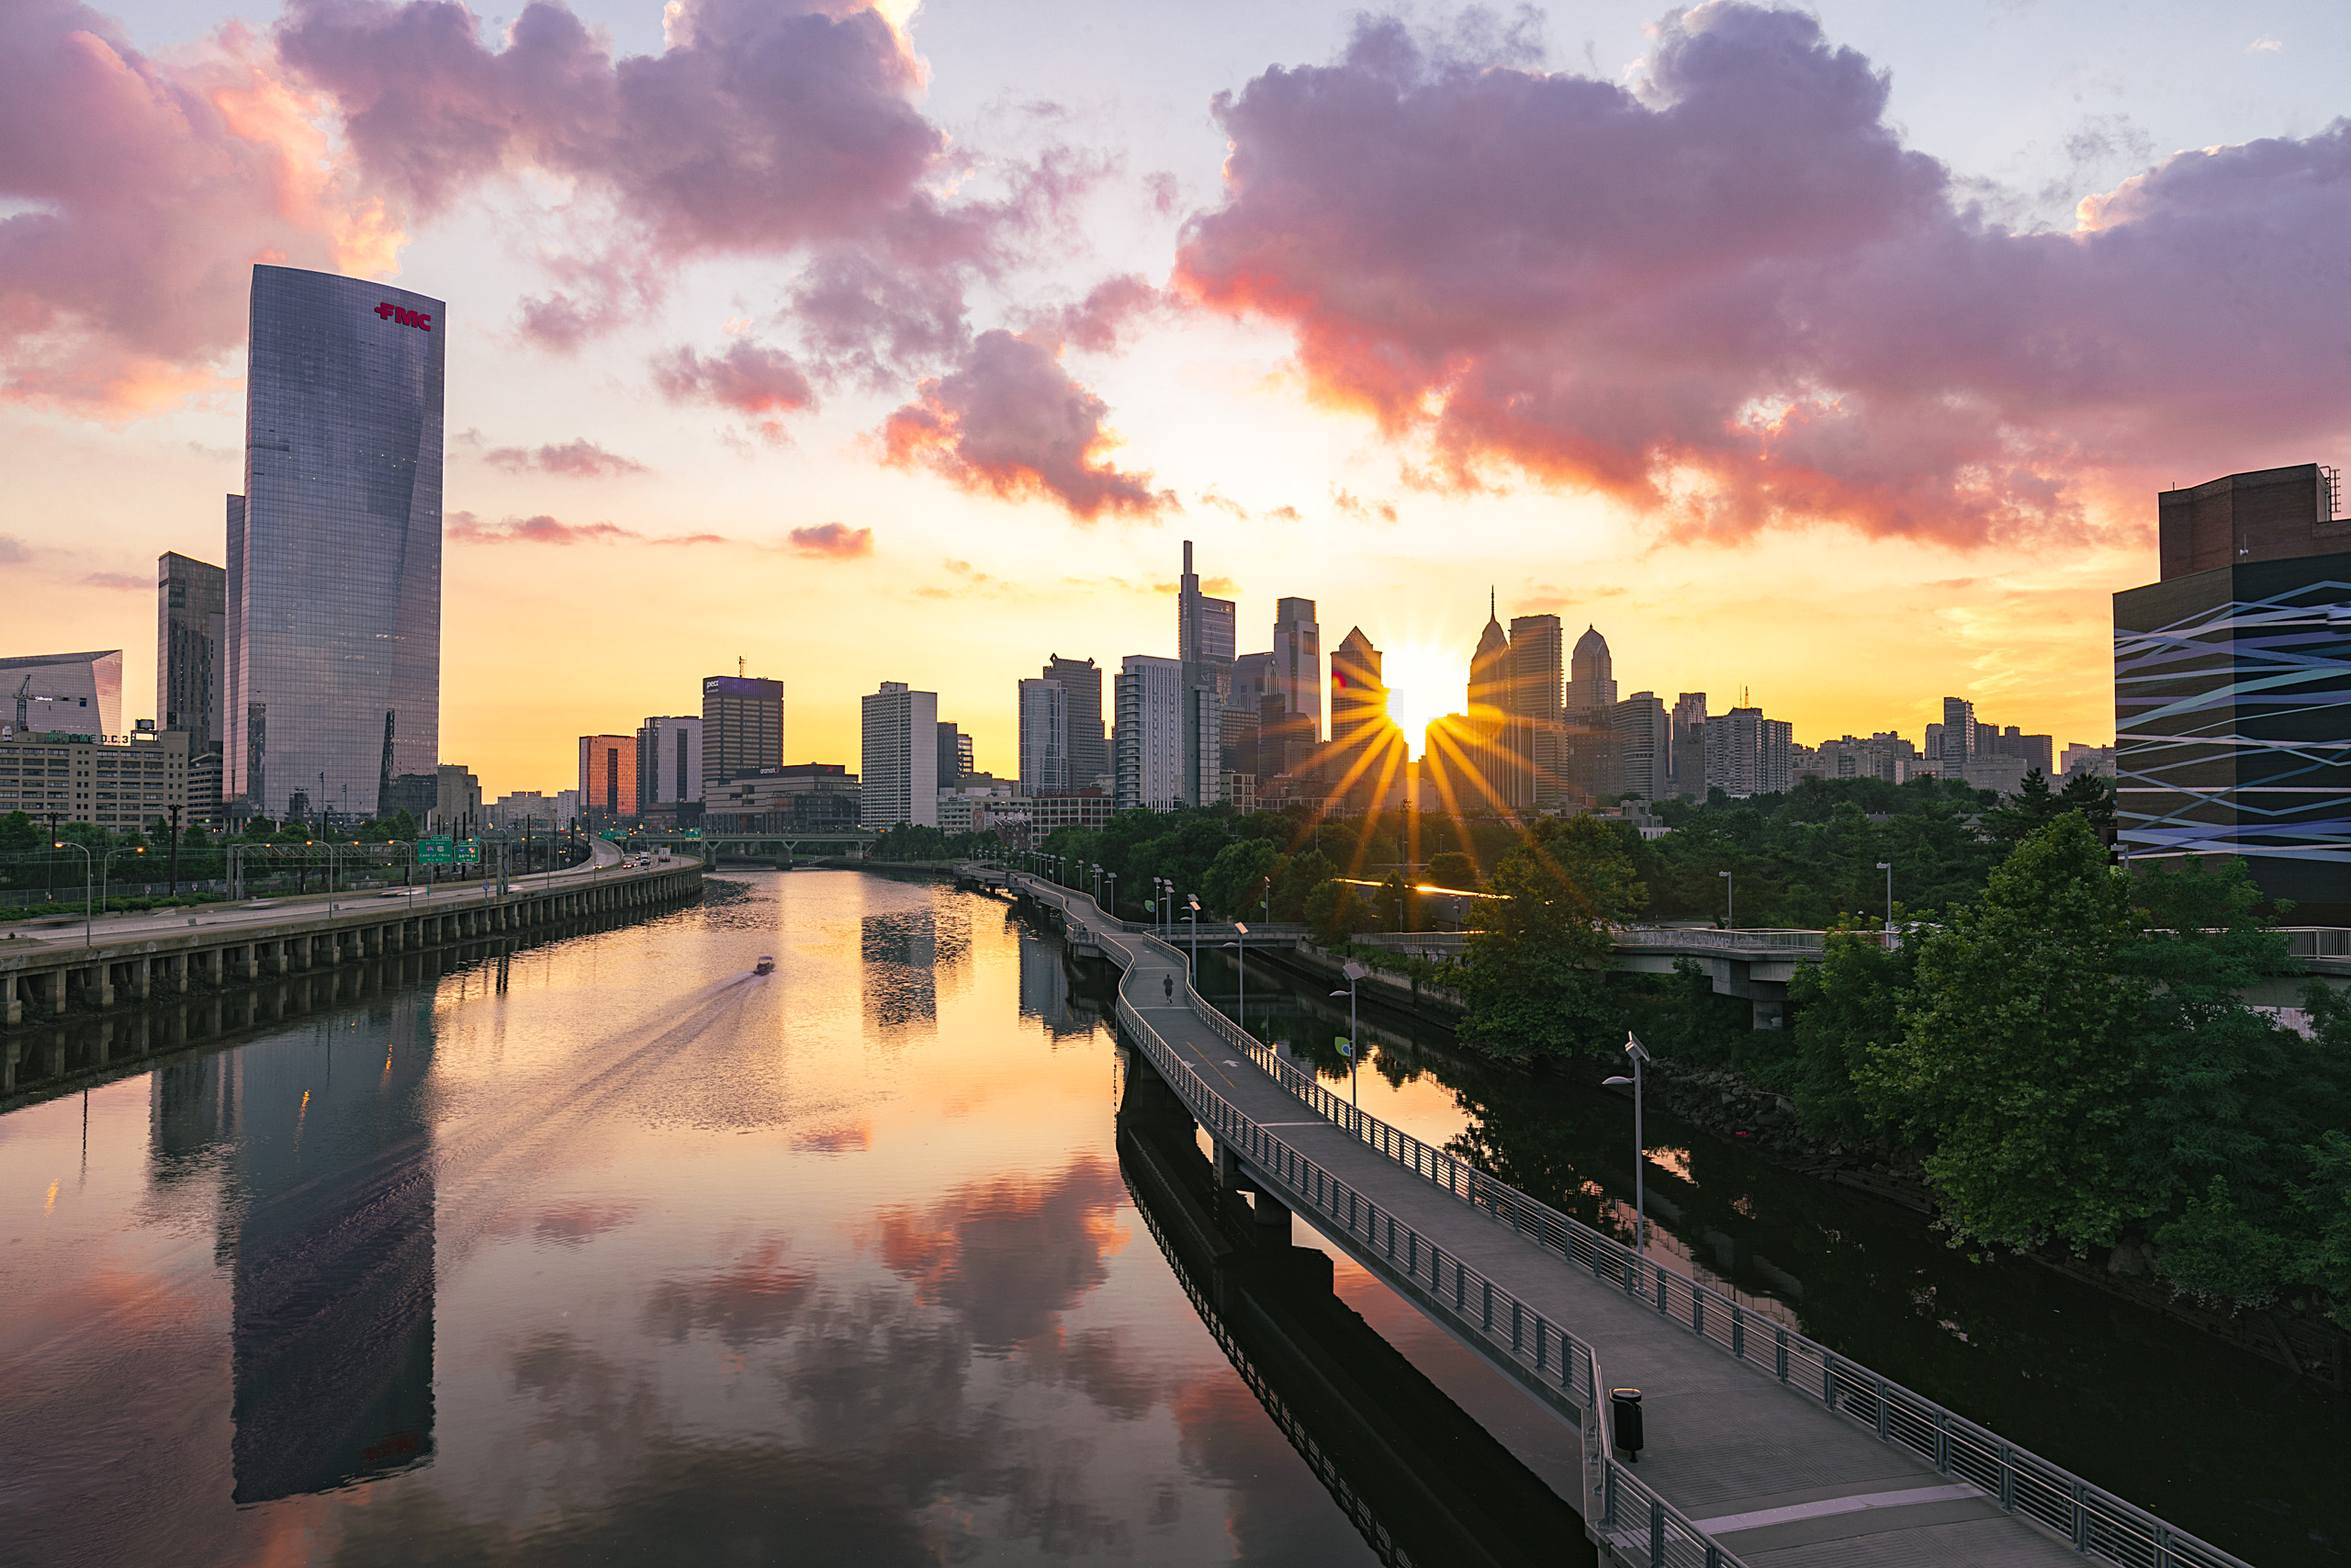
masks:
<svg viewBox="0 0 2351 1568"><path fill-rule="evenodd" d="M228 811L376 816L440 762L442 301L254 268ZM296 806L296 795L303 806Z"/></svg>

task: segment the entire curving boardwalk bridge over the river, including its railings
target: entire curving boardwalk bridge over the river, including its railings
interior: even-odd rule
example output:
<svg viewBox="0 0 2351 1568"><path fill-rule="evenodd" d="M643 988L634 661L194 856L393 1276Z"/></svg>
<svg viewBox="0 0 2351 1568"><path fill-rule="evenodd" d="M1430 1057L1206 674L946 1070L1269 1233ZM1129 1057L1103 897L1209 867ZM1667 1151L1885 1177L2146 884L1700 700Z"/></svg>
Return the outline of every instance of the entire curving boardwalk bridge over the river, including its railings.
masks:
<svg viewBox="0 0 2351 1568"><path fill-rule="evenodd" d="M1904 1389L1775 1302L1665 1267L1366 1117L1190 985L1183 952L1030 875L1121 971L1133 1070L1211 1138L1225 1190L1286 1239L1291 1218L1387 1281L1573 1432L1585 1535L1641 1568L2245 1568L2241 1559ZM1634 1387L1648 1443L1620 1450L1608 1392Z"/></svg>

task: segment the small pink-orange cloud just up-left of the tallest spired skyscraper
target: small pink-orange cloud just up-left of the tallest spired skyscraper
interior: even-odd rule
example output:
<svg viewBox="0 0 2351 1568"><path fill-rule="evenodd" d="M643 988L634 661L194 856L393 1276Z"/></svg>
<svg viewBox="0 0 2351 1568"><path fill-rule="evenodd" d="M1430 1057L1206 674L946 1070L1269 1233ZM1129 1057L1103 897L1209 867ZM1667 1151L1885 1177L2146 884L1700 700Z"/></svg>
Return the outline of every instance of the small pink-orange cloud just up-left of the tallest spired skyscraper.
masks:
<svg viewBox="0 0 2351 1568"><path fill-rule="evenodd" d="M1041 496L1081 522L1103 512L1152 517L1176 508L1150 475L1112 468L1107 404L1074 383L1044 343L983 331L969 360L924 381L882 430L889 461L924 465L962 489L1006 501Z"/></svg>

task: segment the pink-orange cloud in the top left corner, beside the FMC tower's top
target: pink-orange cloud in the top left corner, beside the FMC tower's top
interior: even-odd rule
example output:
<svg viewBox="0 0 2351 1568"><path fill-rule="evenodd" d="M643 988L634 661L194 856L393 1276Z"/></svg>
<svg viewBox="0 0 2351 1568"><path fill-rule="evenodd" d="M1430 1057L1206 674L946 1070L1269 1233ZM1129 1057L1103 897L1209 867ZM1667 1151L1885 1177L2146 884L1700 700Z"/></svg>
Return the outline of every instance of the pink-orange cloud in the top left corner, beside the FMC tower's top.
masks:
<svg viewBox="0 0 2351 1568"><path fill-rule="evenodd" d="M176 63L73 0L0 7L0 388L118 418L245 341L254 261L376 273L397 226L235 26Z"/></svg>

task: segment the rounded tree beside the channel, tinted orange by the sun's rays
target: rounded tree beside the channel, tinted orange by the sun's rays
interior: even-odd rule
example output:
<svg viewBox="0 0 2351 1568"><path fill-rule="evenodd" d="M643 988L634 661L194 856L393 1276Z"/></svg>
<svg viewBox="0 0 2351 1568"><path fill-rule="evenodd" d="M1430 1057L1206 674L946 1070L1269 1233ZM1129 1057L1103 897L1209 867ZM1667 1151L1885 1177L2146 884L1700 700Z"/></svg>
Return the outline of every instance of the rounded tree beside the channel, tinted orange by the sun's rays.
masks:
<svg viewBox="0 0 2351 1568"><path fill-rule="evenodd" d="M1495 1056L1599 1051L1617 1009L1606 973L1613 926L1646 889L1622 825L1592 816L1540 818L1493 870L1467 947L1460 1039Z"/></svg>

